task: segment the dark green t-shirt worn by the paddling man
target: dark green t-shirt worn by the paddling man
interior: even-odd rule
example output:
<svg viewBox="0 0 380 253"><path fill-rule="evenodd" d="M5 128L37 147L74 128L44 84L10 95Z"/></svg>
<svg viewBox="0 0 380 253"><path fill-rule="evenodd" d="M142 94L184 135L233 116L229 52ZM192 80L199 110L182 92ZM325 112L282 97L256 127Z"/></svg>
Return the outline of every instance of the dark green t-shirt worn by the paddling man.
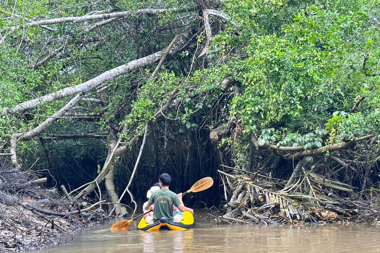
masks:
<svg viewBox="0 0 380 253"><path fill-rule="evenodd" d="M168 220L173 221L173 205L178 207L181 205L180 199L177 194L169 189L159 189L153 192L150 196L148 203L153 205L153 221L158 221L162 217L166 217Z"/></svg>

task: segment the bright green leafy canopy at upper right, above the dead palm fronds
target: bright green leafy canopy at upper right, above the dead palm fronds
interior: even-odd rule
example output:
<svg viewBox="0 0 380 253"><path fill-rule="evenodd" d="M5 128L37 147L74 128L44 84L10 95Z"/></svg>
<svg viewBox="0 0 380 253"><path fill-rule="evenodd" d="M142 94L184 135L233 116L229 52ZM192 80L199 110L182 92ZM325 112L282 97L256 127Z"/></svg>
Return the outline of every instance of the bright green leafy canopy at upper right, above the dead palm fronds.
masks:
<svg viewBox="0 0 380 253"><path fill-rule="evenodd" d="M362 95L367 96L363 105L366 116L362 116L366 119L356 121L368 125L349 127L354 121L350 116L349 123L337 130L341 136L377 131L371 119L376 118L373 115L377 115L374 110L379 102L379 43L374 40L379 29L371 19L379 15L379 9L374 1L348 2L320 5L317 1L302 1L298 6L290 1L225 3L237 20L244 20L239 23L242 31L252 29L249 35L240 35L240 45L234 43L244 56L220 67L225 73L234 70L234 78L241 84L243 92L234 98L230 109L245 132L281 126L276 127L280 135L285 136L287 131L303 135L332 112L348 111ZM244 11L248 4L250 11ZM352 8L348 10L346 4ZM271 21L269 10L273 9L278 10L276 15L286 17ZM215 52L226 55L224 48L229 41L229 35L218 35L215 48L220 49ZM282 145L285 143L292 145L289 141ZM305 145L307 150L322 142L294 143Z"/></svg>

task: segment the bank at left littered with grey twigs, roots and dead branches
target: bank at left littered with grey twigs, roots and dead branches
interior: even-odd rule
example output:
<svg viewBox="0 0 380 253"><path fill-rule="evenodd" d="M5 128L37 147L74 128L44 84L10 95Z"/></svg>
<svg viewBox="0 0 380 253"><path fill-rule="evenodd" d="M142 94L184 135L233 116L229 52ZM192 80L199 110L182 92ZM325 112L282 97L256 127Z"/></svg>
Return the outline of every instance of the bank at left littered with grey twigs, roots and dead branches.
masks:
<svg viewBox="0 0 380 253"><path fill-rule="evenodd" d="M0 170L0 248L5 251L41 249L60 244L64 235L106 219L97 202L74 203L56 189L46 189L38 171Z"/></svg>

